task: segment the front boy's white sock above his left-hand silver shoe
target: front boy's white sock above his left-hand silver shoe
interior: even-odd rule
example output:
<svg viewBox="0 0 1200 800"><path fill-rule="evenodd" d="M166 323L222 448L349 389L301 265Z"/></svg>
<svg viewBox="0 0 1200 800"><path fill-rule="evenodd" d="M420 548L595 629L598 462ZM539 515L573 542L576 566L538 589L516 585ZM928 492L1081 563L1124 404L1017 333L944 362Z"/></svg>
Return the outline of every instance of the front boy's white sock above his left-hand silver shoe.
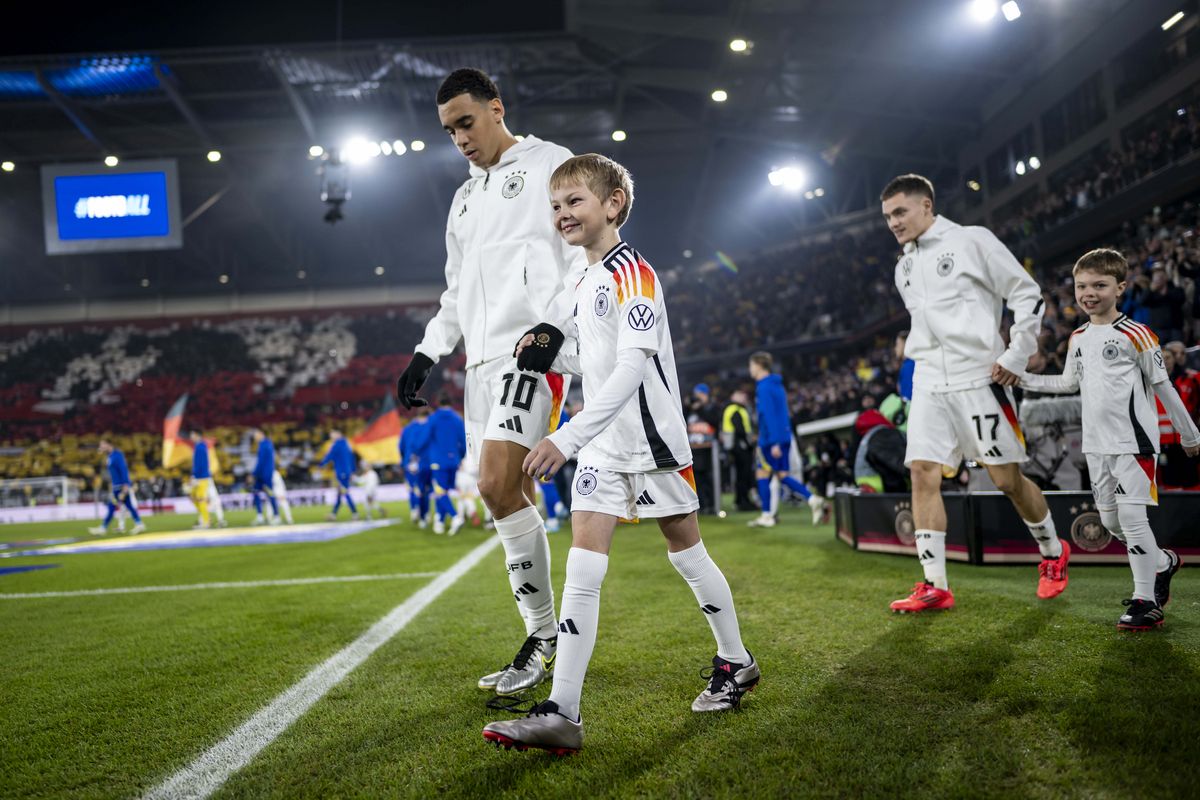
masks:
<svg viewBox="0 0 1200 800"><path fill-rule="evenodd" d="M608 571L608 557L580 547L566 554L566 583L563 585L562 622L558 624L558 655L554 656L554 684L550 699L571 720L580 718L583 678L596 646L600 620L600 585Z"/></svg>

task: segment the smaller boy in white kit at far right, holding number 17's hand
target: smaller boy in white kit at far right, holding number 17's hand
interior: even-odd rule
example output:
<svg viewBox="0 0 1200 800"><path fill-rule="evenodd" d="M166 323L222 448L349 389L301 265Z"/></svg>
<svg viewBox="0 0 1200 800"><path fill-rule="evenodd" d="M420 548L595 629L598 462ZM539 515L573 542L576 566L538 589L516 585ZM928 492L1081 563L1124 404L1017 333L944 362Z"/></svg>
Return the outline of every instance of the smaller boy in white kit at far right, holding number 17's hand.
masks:
<svg viewBox="0 0 1200 800"><path fill-rule="evenodd" d="M1079 391L1084 404L1084 455L1096 510L1121 540L1133 570L1133 597L1117 627L1145 631L1163 624L1171 576L1182 561L1162 549L1150 529L1146 506L1158 505L1154 473L1160 438L1154 397L1180 432L1188 456L1200 452L1200 431L1163 365L1158 337L1120 311L1128 264L1114 249L1093 249L1075 263L1075 300L1088 323L1070 335L1061 375L1022 375L1034 391Z"/></svg>

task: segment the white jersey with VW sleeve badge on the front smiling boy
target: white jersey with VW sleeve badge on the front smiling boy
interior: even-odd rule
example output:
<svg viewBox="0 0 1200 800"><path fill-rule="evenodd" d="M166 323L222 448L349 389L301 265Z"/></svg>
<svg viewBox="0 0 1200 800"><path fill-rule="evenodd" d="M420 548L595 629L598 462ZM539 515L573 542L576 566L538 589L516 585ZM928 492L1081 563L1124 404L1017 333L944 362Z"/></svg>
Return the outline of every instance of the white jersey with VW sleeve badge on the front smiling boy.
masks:
<svg viewBox="0 0 1200 800"><path fill-rule="evenodd" d="M617 353L652 353L637 395L580 451L580 463L618 473L679 470L691 464L662 287L650 265L620 242L575 287L583 408L612 374ZM565 427L571 423L568 422Z"/></svg>

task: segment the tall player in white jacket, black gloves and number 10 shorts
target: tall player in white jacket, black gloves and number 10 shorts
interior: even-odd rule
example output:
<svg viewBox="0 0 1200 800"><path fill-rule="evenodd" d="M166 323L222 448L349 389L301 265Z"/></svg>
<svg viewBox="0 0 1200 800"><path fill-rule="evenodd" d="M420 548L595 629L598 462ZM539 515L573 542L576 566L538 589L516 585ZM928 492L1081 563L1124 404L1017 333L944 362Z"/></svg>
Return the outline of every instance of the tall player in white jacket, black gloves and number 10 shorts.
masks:
<svg viewBox="0 0 1200 800"><path fill-rule="evenodd" d="M550 543L521 464L558 421L568 379L545 369L570 321L571 276L587 265L582 251L558 237L547 211L550 175L570 151L532 136L517 142L504 125L496 84L478 70L452 72L437 102L438 119L470 162L470 175L446 218L440 308L396 395L404 408L426 404L418 391L433 363L464 342L467 459L479 464L479 493L496 518L527 634L510 663L482 676L479 687L514 694L545 680L558 637ZM538 347L517 361L517 341L530 331Z"/></svg>

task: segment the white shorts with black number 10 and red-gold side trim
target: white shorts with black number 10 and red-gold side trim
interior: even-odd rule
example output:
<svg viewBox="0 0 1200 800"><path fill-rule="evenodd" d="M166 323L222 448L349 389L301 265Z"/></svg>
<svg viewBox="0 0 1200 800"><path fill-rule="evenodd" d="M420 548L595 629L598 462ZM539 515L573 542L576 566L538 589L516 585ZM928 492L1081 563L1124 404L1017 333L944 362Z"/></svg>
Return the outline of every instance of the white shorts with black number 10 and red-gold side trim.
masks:
<svg viewBox="0 0 1200 800"><path fill-rule="evenodd" d="M516 359L493 359L469 368L463 390L467 458L479 463L484 439L533 450L558 428L569 387L570 375L521 372Z"/></svg>

